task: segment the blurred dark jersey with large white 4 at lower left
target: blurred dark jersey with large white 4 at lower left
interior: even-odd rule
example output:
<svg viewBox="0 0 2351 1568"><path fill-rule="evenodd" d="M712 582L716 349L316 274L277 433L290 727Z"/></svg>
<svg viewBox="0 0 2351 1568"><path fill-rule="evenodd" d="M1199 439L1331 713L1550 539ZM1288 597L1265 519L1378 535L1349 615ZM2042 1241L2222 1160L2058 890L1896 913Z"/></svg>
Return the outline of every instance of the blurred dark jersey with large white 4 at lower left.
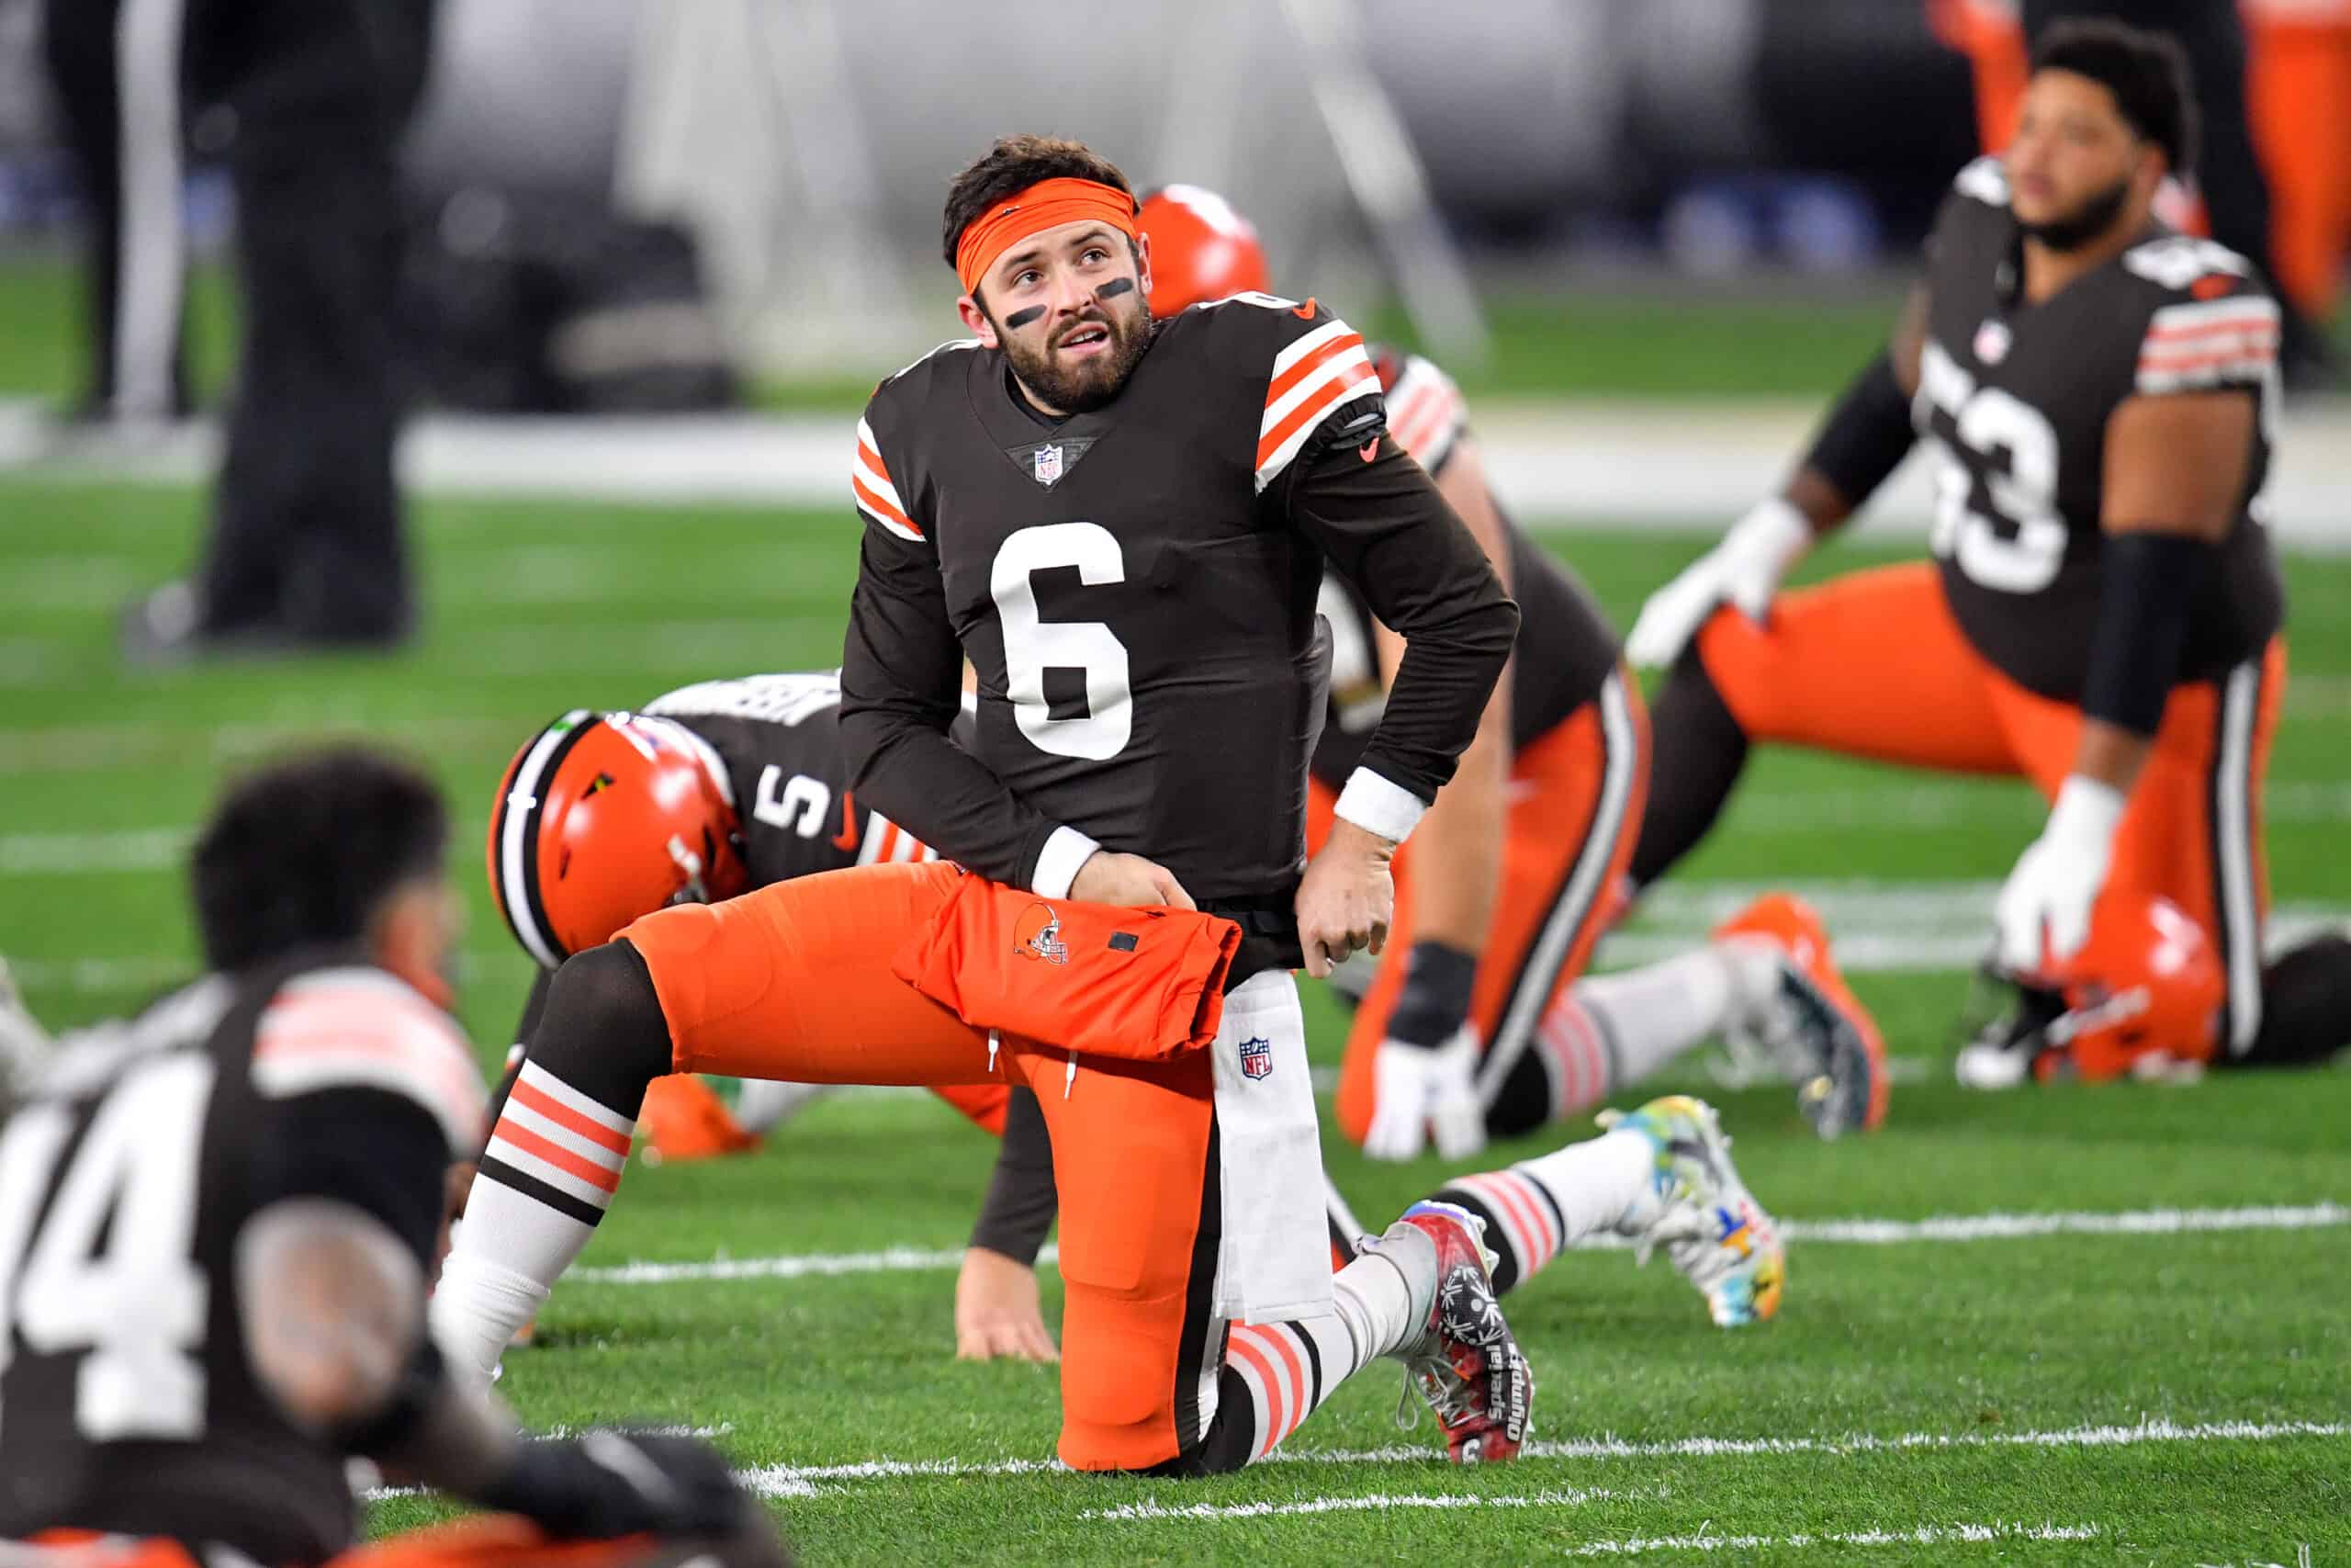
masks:
<svg viewBox="0 0 2351 1568"><path fill-rule="evenodd" d="M423 1269L482 1140L458 1027L331 954L209 976L61 1041L0 1131L0 1542L169 1535L252 1563L350 1544L343 1450L254 1380L237 1237L364 1208Z"/></svg>

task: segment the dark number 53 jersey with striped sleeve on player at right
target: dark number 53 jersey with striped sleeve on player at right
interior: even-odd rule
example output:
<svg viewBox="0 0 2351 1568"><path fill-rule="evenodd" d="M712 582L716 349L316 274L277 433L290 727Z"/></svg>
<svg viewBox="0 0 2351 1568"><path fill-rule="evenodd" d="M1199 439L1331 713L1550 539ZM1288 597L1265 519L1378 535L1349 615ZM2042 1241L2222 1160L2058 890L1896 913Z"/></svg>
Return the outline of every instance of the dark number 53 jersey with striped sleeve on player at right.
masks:
<svg viewBox="0 0 2351 1568"><path fill-rule="evenodd" d="M2041 303L2017 296L2020 233L1998 160L1968 165L1930 240L1914 418L1935 440L1935 555L1968 642L2027 691L2076 703L2097 630L2106 421L2128 397L2259 402L2236 524L2189 621L2179 679L2269 642L2283 588L2259 517L2276 411L2278 306L2210 240L2144 240Z"/></svg>

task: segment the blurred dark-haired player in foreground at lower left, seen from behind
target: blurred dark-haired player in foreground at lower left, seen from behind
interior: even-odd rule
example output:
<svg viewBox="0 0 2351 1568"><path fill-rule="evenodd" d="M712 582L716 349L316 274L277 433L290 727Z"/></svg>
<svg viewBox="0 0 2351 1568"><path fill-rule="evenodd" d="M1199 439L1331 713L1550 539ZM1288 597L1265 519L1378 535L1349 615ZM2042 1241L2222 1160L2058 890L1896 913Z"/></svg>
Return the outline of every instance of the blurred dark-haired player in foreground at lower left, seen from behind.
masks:
<svg viewBox="0 0 2351 1568"><path fill-rule="evenodd" d="M369 752L254 773L195 846L209 973L61 1041L0 1131L9 1563L781 1563L703 1443L522 1441L426 1335L482 1126L444 839ZM353 1455L510 1516L355 1549Z"/></svg>

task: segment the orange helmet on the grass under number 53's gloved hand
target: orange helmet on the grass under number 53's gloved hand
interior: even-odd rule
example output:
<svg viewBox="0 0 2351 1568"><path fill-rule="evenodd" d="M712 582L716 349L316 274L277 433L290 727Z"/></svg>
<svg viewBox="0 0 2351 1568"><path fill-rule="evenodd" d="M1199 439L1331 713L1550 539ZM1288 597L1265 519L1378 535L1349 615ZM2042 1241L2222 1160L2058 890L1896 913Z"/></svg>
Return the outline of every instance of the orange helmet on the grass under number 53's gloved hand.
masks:
<svg viewBox="0 0 2351 1568"><path fill-rule="evenodd" d="M2041 1081L2118 1079L2158 1063L2210 1063L2226 997L2219 954L2186 910L2154 893L2109 893L2090 914L2090 940L2071 959L2031 973L1989 973L2010 992L2008 1016L1968 1046L2010 1056ZM1977 1058L1982 1067L1987 1058ZM1989 1084L1984 1084L1989 1086Z"/></svg>

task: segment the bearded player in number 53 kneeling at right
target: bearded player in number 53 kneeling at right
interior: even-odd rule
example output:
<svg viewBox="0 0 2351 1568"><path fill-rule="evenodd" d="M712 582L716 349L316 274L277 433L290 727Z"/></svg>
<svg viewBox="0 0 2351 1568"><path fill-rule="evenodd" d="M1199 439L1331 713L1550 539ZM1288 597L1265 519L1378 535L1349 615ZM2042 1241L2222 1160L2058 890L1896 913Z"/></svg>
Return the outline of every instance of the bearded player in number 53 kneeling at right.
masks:
<svg viewBox="0 0 2351 1568"><path fill-rule="evenodd" d="M1636 663L1674 668L1641 884L1707 832L1754 741L2024 776L2052 802L1996 910L1998 964L2041 1001L1963 1053L1987 1086L2154 1053L2297 1063L2351 1037L2351 943L2262 966L2259 797L2285 686L2259 517L2278 306L2243 256L2151 216L2193 167L2193 125L2175 42L2052 28L2008 158L1961 172L1888 350L1787 489L1629 639ZM1942 458L1935 562L1780 595L1921 435ZM2215 950L2217 1025L2071 1053L2059 971L2106 954L2099 980L2128 1006L2179 959L2144 936L2154 898Z"/></svg>

